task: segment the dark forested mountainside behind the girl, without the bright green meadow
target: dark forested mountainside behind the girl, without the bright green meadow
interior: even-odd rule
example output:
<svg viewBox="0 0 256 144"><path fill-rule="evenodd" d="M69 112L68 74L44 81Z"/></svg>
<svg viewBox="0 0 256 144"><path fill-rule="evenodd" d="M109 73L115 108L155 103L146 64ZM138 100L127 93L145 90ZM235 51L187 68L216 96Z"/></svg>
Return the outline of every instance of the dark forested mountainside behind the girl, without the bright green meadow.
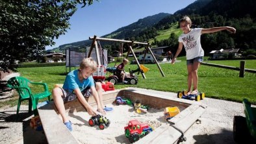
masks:
<svg viewBox="0 0 256 144"><path fill-rule="evenodd" d="M170 29L173 23L177 23L185 15L192 20L192 28L235 27L237 29L236 34L229 34L227 31L203 34L201 36L201 44L205 54L207 55L212 50L236 48L240 49L244 56L248 54L256 55L256 10L253 8L255 6L256 1L253 0L196 1L183 8L183 10L179 10L175 14L162 19L153 28L155 30ZM177 28L179 29L179 26ZM151 36L150 38L155 38L153 34L149 36ZM135 38L138 41L143 39L143 35ZM156 47L170 46L172 52L175 53L178 45L177 39L178 36L172 33L167 40L155 40L152 44ZM185 51L183 51L183 54L185 54Z"/></svg>

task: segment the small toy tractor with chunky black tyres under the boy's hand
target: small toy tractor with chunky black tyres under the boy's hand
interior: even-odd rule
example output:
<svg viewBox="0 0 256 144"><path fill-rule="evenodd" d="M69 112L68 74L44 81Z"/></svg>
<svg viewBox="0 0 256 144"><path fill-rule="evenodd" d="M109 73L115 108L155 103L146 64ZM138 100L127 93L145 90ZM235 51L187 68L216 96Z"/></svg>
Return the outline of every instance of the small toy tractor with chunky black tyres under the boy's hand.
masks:
<svg viewBox="0 0 256 144"><path fill-rule="evenodd" d="M106 126L110 125L110 120L103 115L97 114L92 116L88 123L90 126L98 125L99 129L103 130Z"/></svg>

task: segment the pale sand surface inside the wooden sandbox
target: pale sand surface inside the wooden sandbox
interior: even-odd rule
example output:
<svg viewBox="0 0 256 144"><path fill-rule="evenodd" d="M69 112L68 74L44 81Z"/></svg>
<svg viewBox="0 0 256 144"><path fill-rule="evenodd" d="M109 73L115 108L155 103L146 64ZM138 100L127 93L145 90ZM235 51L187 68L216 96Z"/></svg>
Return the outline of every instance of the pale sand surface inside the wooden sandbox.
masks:
<svg viewBox="0 0 256 144"><path fill-rule="evenodd" d="M130 120L137 119L140 122L147 123L153 128L158 128L160 125L166 125L164 120L164 110L149 108L147 113L138 114L129 105L112 105L112 112L107 112L107 119L110 120L110 125L104 130L99 129L99 126L90 126L88 121L90 116L86 112L77 112L70 114L70 121L73 123L73 131L71 134L80 143L129 143L125 137L124 127L128 125Z"/></svg>

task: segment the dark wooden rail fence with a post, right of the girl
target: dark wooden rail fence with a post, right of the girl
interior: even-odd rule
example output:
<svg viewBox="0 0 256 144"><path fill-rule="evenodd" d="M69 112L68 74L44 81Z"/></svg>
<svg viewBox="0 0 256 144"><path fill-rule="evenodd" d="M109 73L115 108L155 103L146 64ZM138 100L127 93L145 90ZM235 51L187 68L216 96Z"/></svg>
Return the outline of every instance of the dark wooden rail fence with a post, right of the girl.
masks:
<svg viewBox="0 0 256 144"><path fill-rule="evenodd" d="M224 68L224 69L233 69L235 71L240 71L239 77L244 77L245 71L248 73L256 73L255 69L246 69L245 68L246 62L243 60L240 61L240 67L224 66L224 65L220 65L220 64L211 64L211 63L205 63L205 62L202 62L201 64L205 65L205 66L220 67L220 68Z"/></svg>

